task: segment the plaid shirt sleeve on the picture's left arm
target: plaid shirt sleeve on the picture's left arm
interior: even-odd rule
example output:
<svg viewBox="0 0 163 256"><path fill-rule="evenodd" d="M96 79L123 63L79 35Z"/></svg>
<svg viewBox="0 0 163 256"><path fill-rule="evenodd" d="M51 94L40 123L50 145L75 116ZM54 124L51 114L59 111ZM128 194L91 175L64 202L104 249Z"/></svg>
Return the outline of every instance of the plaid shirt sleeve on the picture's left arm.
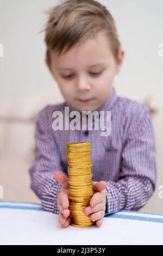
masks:
<svg viewBox="0 0 163 256"><path fill-rule="evenodd" d="M42 208L59 214L57 198L61 185L54 178L57 170L63 172L57 144L51 125L52 107L39 112L35 128L35 159L29 169L31 188L41 199Z"/></svg>

